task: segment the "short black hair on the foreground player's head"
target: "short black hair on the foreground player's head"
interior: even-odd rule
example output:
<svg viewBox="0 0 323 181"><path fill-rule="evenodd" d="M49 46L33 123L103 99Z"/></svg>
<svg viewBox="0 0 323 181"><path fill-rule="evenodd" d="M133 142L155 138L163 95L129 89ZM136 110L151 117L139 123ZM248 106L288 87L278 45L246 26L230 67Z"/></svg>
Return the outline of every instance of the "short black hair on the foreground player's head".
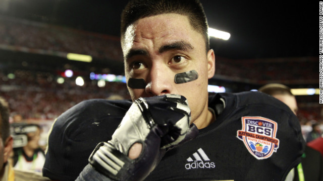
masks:
<svg viewBox="0 0 323 181"><path fill-rule="evenodd" d="M121 14L121 41L129 25L135 21L154 15L176 13L188 17L194 30L205 39L206 51L209 50L207 20L199 0L133 0Z"/></svg>

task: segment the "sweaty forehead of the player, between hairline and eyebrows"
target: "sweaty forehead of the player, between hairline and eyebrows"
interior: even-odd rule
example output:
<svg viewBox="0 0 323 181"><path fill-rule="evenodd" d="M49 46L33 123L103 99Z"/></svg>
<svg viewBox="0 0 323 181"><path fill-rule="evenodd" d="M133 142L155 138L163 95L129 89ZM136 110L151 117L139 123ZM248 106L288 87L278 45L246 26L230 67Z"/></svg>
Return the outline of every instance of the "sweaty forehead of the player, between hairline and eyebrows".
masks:
<svg viewBox="0 0 323 181"><path fill-rule="evenodd" d="M175 13L160 14L141 18L131 24L125 32L122 48L126 55L133 46L140 43L156 47L178 40L204 43L203 35L193 29L187 16Z"/></svg>

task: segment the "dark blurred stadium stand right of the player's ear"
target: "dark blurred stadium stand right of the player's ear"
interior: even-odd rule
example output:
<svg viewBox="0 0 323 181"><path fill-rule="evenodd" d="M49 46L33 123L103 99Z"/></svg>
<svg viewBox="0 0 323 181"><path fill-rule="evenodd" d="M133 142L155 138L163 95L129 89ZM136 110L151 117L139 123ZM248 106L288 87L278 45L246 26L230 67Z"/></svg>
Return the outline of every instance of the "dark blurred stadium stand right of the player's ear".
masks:
<svg viewBox="0 0 323 181"><path fill-rule="evenodd" d="M316 83L319 77L316 62L317 57L252 60L221 57L216 60L216 74L258 84L273 81L285 84Z"/></svg>

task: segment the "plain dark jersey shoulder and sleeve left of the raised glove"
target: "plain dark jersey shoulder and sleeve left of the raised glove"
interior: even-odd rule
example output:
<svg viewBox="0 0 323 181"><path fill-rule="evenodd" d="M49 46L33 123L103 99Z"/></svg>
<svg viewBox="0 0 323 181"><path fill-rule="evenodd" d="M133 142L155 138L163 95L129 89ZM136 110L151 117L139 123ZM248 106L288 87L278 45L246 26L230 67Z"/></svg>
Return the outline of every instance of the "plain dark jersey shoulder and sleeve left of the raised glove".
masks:
<svg viewBox="0 0 323 181"><path fill-rule="evenodd" d="M52 180L75 180L95 146L111 139L131 104L128 100L93 99L60 115L49 131L43 175Z"/></svg>

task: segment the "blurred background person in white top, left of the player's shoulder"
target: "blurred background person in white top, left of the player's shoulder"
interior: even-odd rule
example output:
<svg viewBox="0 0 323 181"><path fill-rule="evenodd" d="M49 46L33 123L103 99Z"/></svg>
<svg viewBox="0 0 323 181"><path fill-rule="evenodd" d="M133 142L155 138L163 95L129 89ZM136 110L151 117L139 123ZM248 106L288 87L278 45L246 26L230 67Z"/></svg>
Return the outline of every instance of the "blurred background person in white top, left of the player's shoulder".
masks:
<svg viewBox="0 0 323 181"><path fill-rule="evenodd" d="M44 151L39 146L41 128L37 124L26 124L20 127L27 136L27 144L14 148L13 165L17 169L41 172L45 162Z"/></svg>

